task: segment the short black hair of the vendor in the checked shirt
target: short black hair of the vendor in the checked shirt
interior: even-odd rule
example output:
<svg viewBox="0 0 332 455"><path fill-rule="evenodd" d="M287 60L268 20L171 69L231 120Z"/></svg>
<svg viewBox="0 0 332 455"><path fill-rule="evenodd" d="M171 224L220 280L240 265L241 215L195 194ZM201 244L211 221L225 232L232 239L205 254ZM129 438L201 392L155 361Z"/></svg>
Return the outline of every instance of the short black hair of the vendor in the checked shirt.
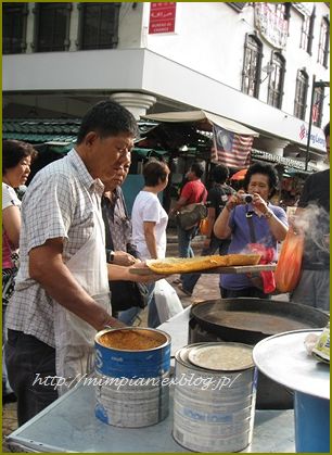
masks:
<svg viewBox="0 0 332 455"><path fill-rule="evenodd" d="M139 136L137 122L126 108L115 101L106 100L94 104L82 117L77 134L77 143L81 143L88 132L95 131L101 138L129 132Z"/></svg>

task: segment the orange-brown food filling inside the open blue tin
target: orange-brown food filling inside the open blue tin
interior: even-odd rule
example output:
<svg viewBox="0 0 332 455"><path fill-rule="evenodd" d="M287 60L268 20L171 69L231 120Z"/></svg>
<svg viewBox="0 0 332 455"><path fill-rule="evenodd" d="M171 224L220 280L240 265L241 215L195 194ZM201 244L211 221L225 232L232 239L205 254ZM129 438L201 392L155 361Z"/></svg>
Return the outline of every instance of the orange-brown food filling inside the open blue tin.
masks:
<svg viewBox="0 0 332 455"><path fill-rule="evenodd" d="M142 329L116 329L103 333L99 343L122 351L144 351L158 347L167 340L163 333Z"/></svg>

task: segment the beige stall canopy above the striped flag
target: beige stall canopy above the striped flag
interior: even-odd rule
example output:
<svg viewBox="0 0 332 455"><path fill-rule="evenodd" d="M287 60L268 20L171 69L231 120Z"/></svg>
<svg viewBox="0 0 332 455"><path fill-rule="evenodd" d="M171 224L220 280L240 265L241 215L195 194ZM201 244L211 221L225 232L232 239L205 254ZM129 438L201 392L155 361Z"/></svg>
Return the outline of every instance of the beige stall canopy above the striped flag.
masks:
<svg viewBox="0 0 332 455"><path fill-rule="evenodd" d="M191 122L199 124L199 127L207 131L212 131L212 124L215 124L220 126L220 128L227 129L228 131L232 131L238 135L251 135L254 137L259 136L257 131L254 131L253 129L250 129L238 122L230 121L229 118L220 117L220 115L216 115L202 110L184 112L164 112L161 114L142 115L141 118L166 123Z"/></svg>

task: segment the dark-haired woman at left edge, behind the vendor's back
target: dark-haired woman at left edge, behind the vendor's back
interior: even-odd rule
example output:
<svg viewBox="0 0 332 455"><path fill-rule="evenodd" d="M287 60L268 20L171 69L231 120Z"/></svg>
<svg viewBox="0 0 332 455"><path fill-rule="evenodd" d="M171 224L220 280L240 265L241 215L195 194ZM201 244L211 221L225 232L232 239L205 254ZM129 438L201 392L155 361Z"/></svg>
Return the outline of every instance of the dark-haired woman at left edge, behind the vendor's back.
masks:
<svg viewBox="0 0 332 455"><path fill-rule="evenodd" d="M37 156L29 143L18 140L2 141L2 354L7 339L5 311L14 291L18 266L18 242L21 231L21 199L17 189L26 182L31 161ZM2 356L2 402L14 401L9 386L4 356Z"/></svg>

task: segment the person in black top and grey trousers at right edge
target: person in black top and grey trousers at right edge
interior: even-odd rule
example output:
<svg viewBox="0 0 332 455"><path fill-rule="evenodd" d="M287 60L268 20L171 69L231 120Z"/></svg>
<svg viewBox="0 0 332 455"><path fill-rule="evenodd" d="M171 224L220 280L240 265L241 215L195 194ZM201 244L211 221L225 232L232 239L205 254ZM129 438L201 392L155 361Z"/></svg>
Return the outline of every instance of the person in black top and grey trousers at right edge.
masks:
<svg viewBox="0 0 332 455"><path fill-rule="evenodd" d="M330 122L324 127L330 162ZM295 212L296 225L305 229L302 276L291 300L330 311L330 168L311 174L305 181Z"/></svg>

